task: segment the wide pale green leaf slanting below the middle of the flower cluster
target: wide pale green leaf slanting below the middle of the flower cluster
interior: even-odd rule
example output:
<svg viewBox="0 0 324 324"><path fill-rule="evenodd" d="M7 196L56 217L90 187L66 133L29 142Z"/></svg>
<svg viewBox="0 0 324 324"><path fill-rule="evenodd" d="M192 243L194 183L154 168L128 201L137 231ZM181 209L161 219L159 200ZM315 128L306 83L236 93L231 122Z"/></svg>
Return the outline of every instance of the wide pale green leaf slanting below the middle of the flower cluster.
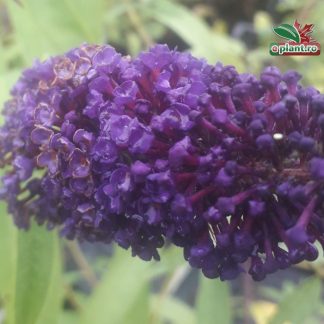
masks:
<svg viewBox="0 0 324 324"><path fill-rule="evenodd" d="M132 258L129 251L116 250L108 264L99 285L85 301L81 324L123 324L129 319L129 314L148 291L150 263ZM146 298L146 297L144 297ZM146 303L142 305L143 318L148 314ZM136 321L134 323L137 323ZM139 321L138 323L145 323Z"/></svg>

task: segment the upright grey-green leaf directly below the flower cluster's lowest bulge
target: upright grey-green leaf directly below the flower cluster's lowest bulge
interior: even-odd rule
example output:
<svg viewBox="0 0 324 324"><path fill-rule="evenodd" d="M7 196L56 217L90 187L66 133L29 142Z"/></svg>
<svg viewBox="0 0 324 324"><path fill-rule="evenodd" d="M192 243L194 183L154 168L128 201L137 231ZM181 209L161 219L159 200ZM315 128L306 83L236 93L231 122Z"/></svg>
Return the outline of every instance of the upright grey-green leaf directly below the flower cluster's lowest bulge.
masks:
<svg viewBox="0 0 324 324"><path fill-rule="evenodd" d="M197 323L233 323L229 284L200 274L196 309Z"/></svg>

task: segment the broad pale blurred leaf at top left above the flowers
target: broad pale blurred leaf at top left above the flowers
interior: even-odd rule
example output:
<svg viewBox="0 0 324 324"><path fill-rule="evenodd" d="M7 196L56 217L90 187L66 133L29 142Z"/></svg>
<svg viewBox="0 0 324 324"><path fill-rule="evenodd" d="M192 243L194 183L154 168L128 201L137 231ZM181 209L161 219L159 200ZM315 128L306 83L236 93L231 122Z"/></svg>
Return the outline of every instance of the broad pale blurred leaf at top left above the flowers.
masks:
<svg viewBox="0 0 324 324"><path fill-rule="evenodd" d="M83 42L103 41L105 1L7 0L14 38L26 64Z"/></svg>

